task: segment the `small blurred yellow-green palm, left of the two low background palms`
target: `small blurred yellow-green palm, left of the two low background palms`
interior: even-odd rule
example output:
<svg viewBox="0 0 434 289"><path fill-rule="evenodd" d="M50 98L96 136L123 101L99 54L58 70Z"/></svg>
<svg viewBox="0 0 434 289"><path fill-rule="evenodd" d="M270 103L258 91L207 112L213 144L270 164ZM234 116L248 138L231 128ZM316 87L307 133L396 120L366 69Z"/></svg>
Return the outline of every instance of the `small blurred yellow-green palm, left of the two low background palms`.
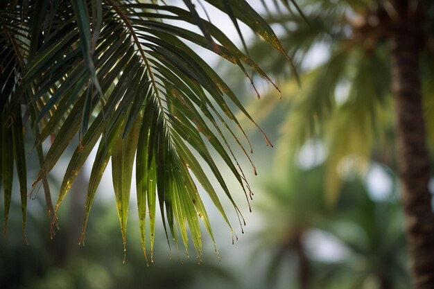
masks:
<svg viewBox="0 0 434 289"><path fill-rule="evenodd" d="M258 255L272 251L267 277L270 286L279 280L281 265L296 260L297 287L311 288L315 272L305 240L311 229L320 227L327 220L322 175L321 166L309 171L291 170L283 182L270 181L264 186L266 200L258 204L258 209L265 220L263 229L254 238L257 240L254 252ZM288 272L285 273L288 276Z"/></svg>

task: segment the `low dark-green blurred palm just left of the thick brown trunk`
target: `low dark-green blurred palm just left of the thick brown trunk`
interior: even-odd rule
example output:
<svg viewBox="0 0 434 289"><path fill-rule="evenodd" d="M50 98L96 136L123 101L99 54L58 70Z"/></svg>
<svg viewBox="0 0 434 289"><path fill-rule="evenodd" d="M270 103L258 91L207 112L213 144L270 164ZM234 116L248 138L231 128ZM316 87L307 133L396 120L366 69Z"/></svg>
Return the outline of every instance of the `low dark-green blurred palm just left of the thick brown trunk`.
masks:
<svg viewBox="0 0 434 289"><path fill-rule="evenodd" d="M322 229L349 254L335 263L317 263L318 286L329 279L343 279L347 286L342 288L409 288L403 214L396 192L374 201L363 184L346 182L342 194L339 210Z"/></svg>

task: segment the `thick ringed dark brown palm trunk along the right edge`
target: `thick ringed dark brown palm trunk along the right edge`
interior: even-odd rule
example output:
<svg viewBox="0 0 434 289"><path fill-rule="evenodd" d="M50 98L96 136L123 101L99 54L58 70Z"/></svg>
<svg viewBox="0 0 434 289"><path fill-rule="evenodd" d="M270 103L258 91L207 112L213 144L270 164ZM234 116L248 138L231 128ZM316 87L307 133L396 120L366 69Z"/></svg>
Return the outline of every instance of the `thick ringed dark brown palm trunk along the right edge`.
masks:
<svg viewBox="0 0 434 289"><path fill-rule="evenodd" d="M406 217L411 274L417 289L434 288L434 213L422 111L417 33L391 36L392 92L397 117L397 161Z"/></svg>

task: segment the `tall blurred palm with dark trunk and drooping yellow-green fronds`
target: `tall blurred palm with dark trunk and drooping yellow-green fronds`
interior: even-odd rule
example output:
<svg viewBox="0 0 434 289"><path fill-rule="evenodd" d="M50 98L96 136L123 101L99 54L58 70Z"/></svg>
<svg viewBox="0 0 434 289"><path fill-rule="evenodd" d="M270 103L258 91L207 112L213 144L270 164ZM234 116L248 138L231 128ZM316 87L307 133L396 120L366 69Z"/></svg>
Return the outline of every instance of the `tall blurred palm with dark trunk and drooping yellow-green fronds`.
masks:
<svg viewBox="0 0 434 289"><path fill-rule="evenodd" d="M363 171L370 157L394 168L396 157L414 286L434 288L434 213L426 148L427 142L433 145L434 128L433 2L298 4L307 21L288 13L269 19L283 28L285 49L300 69L315 46L329 55L320 67L303 74L301 95L286 96L290 112L278 147L293 155L306 139L326 143L330 203L340 191L340 175L351 168ZM264 62L282 75L286 67L275 60L270 56ZM294 90L290 83L282 87ZM393 120L395 128L390 126ZM395 157L390 157L392 152Z"/></svg>

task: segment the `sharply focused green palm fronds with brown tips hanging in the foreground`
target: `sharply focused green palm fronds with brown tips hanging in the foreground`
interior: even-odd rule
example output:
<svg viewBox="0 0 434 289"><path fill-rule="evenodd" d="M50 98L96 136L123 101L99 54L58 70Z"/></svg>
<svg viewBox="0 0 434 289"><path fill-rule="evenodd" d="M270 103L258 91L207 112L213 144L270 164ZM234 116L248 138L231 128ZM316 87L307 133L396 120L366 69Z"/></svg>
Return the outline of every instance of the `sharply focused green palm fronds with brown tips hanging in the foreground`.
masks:
<svg viewBox="0 0 434 289"><path fill-rule="evenodd" d="M228 15L241 38L238 21L243 22L290 63L273 30L247 1L198 3ZM145 256L149 238L152 259L157 202L168 240L170 231L175 243L182 240L187 248L189 228L200 256L199 219L213 238L196 182L229 225L209 175L217 179L242 224L241 212L210 150L220 155L250 198L250 187L226 134L234 137L248 157L250 143L245 145L247 137L247 141L238 137L236 130L243 133L243 129L234 116L234 107L252 118L186 42L236 64L250 79L248 69L271 80L198 11L191 0L176 5L156 0L0 2L0 184L6 225L15 166L25 234L29 151L37 154L40 164L31 193L43 186L54 234L60 204L94 148L97 152L92 160L80 242L110 159L124 246L133 163ZM182 28L188 25L200 32ZM35 141L30 149L24 146L27 133L33 134ZM53 205L47 175L71 146L75 151ZM205 173L202 167L206 166L211 173Z"/></svg>

